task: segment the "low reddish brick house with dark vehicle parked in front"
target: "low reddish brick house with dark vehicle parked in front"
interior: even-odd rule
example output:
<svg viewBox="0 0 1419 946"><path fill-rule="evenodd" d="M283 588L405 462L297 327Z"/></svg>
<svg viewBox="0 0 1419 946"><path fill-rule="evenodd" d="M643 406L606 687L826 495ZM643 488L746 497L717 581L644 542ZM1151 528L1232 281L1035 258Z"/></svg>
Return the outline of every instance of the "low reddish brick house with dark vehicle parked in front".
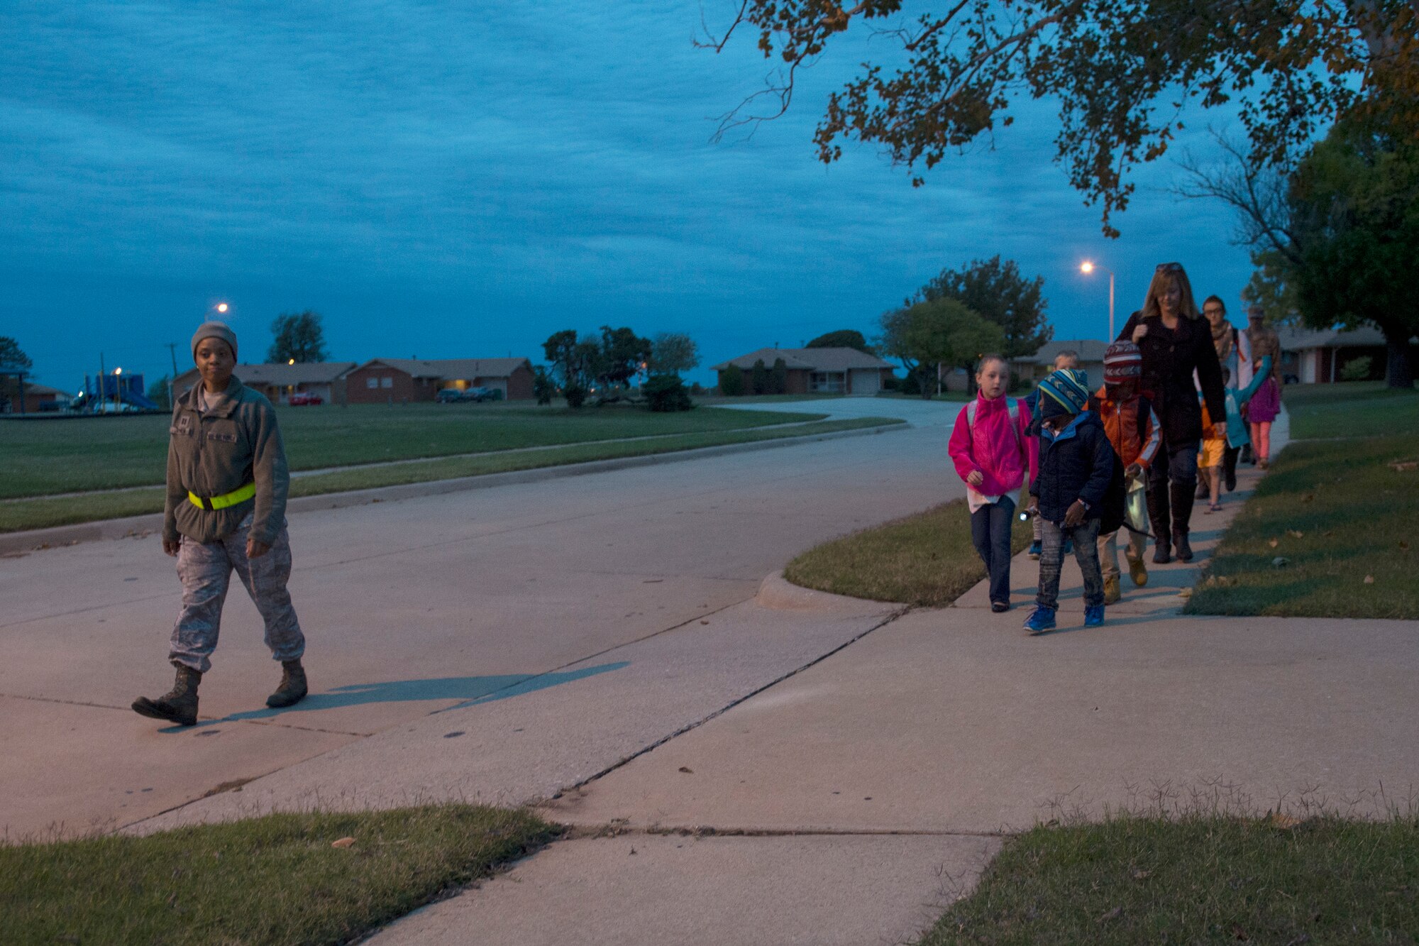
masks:
<svg viewBox="0 0 1419 946"><path fill-rule="evenodd" d="M350 403L433 401L443 388L495 388L508 401L532 398L526 358L375 358L345 376Z"/></svg>

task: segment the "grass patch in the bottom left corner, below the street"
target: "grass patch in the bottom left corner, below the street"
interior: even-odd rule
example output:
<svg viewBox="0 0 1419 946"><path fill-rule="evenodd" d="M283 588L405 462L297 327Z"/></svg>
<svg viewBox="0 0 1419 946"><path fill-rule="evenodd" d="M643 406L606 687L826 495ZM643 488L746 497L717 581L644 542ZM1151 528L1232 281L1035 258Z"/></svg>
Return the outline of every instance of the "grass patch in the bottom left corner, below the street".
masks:
<svg viewBox="0 0 1419 946"><path fill-rule="evenodd" d="M434 805L0 847L0 939L346 943L553 837L522 811Z"/></svg>

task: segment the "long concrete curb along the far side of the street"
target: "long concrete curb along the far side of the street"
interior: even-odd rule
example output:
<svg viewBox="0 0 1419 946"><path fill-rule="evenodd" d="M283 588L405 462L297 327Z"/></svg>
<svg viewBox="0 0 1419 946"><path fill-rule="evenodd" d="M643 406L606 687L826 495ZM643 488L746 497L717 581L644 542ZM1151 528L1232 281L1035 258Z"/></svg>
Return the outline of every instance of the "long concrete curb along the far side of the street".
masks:
<svg viewBox="0 0 1419 946"><path fill-rule="evenodd" d="M695 447L692 450L673 450L670 453L648 453L643 456L622 456L610 460L587 460L586 463L565 463L561 466L542 466L532 470L512 470L509 473L485 473L482 476L463 476L454 480L430 480L427 483L402 483L399 486L377 486L368 490L350 490L346 493L324 493L321 496L299 496L287 503L285 510L292 513L309 513L324 509L345 509L346 506L365 506L366 503L390 503L404 499L419 499L421 496L441 496L444 493L461 493L464 490L492 489L495 486L517 486L521 483L542 483L569 476L586 476L590 473L609 473L613 470L629 470L639 466L660 466L663 463L680 463L683 460L698 460L712 456L727 456L732 453L749 453L753 450L768 450L773 447L795 446L800 443L815 443L817 440L837 440L841 437L857 437L890 430L905 430L911 423L885 423L876 428L858 428L856 430L832 430L829 433L810 433L797 437L775 437L772 440L752 440L749 443L722 443L719 446ZM162 513L146 516L128 516L125 518L104 518L92 523L75 523L72 526L55 526L53 528L34 528L21 533L0 533L0 555L40 551L55 545L74 545L111 538L131 538L149 535L162 530ZM813 592L817 594L817 592Z"/></svg>

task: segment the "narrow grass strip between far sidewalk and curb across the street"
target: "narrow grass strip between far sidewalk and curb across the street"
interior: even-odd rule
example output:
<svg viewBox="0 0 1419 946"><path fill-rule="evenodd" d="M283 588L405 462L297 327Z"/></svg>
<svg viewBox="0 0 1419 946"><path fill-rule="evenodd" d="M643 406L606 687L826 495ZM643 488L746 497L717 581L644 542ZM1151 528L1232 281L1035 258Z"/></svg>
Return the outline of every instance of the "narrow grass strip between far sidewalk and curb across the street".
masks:
<svg viewBox="0 0 1419 946"><path fill-rule="evenodd" d="M731 412L725 412L731 413ZM749 413L749 412L742 412ZM345 490L363 490L376 486L397 486L403 483L429 483L461 476L484 476L508 473L546 466L565 466L587 460L609 460L624 456L647 456L673 453L697 447L721 446L727 443L751 443L782 437L809 436L856 430L885 423L900 423L893 418L851 418L843 420L819 420L792 428L719 430L707 433L678 433L656 440L610 440L600 443L575 443L546 450L499 452L482 456L441 457L436 460L392 463L387 466L352 467L329 473L312 473L291 480L291 496L321 496ZM51 526L91 523L102 518L142 516L163 510L163 489L139 489L123 491L91 491L65 497L34 497L0 501L0 533L13 533Z"/></svg>

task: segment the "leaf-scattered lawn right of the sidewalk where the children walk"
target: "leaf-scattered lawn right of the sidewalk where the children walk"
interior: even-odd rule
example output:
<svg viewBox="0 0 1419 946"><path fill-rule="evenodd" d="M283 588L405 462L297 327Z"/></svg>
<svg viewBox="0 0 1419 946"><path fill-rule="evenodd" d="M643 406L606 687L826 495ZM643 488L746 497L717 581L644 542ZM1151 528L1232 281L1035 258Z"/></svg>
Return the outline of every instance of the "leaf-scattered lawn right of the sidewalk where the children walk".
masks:
<svg viewBox="0 0 1419 946"><path fill-rule="evenodd" d="M1419 435L1291 443L1232 521L1186 612L1419 618L1419 469L1392 466L1416 460Z"/></svg>

